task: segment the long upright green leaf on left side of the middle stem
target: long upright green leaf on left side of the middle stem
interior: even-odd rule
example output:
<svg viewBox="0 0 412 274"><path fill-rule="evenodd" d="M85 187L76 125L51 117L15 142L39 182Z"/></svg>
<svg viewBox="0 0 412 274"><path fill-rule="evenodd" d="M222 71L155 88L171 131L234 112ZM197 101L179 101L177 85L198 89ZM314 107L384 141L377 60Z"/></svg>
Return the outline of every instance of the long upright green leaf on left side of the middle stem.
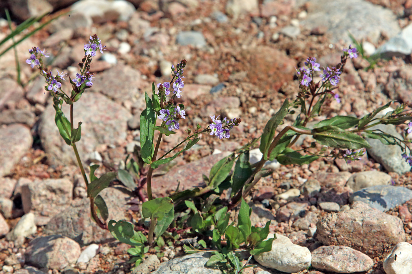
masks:
<svg viewBox="0 0 412 274"><path fill-rule="evenodd" d="M143 161L150 165L153 157L153 128L156 125L156 119L152 107L152 100L150 100L147 92L145 93L146 108L140 115L140 153Z"/></svg>

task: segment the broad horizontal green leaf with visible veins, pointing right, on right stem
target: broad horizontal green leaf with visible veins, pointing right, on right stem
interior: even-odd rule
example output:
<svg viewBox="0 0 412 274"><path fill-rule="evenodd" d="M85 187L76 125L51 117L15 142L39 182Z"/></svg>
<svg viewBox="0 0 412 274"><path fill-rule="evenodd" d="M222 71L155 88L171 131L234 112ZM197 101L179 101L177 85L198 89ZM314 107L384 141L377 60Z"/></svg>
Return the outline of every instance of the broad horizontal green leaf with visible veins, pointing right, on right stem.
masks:
<svg viewBox="0 0 412 274"><path fill-rule="evenodd" d="M317 130L323 130L316 132ZM338 149L370 148L370 144L356 133L346 132L334 126L324 126L313 130L313 138L324 146Z"/></svg>

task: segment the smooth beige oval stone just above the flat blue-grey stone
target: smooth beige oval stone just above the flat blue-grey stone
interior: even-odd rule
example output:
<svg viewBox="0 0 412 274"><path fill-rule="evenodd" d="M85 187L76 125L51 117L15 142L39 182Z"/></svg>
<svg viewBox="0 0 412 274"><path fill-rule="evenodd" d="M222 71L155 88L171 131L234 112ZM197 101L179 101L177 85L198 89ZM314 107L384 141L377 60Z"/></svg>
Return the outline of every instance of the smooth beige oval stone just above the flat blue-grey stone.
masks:
<svg viewBox="0 0 412 274"><path fill-rule="evenodd" d="M355 192L370 186L389 185L391 180L391 175L385 172L370 170L353 174L346 182L346 186Z"/></svg>

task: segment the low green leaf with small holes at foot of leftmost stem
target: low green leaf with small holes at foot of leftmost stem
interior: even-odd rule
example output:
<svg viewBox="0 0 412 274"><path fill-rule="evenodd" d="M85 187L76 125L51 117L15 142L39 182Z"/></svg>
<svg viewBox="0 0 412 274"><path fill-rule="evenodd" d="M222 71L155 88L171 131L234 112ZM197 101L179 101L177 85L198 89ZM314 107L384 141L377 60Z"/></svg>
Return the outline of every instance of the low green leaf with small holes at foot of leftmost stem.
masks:
<svg viewBox="0 0 412 274"><path fill-rule="evenodd" d="M134 231L133 225L129 222L116 222L115 220L110 220L107 227L113 237L124 244L130 244L131 246L143 246L143 244L147 241L143 233L140 231Z"/></svg>

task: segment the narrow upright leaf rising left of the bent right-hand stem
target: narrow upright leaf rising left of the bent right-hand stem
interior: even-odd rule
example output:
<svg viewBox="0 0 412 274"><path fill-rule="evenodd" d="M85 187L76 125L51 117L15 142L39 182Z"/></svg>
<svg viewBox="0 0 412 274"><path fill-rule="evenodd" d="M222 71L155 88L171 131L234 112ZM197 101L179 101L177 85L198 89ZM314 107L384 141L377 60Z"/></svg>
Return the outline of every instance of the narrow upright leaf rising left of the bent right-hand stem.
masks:
<svg viewBox="0 0 412 274"><path fill-rule="evenodd" d="M267 160L268 155L267 152L269 150L269 146L272 142L273 137L275 136L276 128L280 125L283 118L285 118L286 114L288 113L289 108L289 101L288 99L283 102L281 108L279 109L272 118L266 123L265 128L263 129L262 137L260 138L260 152L263 153L263 157Z"/></svg>

